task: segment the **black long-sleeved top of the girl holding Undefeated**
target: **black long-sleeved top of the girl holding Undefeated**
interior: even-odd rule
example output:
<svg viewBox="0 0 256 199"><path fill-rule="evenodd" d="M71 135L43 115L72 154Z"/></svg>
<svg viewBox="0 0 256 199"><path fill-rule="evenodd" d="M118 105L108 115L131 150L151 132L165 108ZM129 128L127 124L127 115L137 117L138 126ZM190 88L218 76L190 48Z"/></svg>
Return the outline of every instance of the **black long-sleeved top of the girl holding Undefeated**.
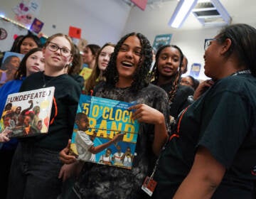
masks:
<svg viewBox="0 0 256 199"><path fill-rule="evenodd" d="M73 80L67 74L59 75L57 77L49 77L43 72L36 72L27 77L22 85L20 92L27 90L36 90L43 87L55 87L54 97L57 104L57 116L53 124L50 124L48 134L23 138L21 141L31 141L36 146L45 149L62 150L68 143L71 134L73 133L73 125L75 122L75 113L78 107L81 88L78 82ZM53 104L51 117L55 114L56 107Z"/></svg>

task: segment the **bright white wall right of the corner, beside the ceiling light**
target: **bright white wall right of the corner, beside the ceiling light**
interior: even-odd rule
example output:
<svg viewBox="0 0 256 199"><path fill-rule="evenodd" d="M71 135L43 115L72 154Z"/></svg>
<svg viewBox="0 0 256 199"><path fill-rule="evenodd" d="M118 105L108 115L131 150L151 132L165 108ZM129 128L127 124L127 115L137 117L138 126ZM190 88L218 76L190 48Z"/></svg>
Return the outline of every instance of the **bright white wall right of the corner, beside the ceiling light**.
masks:
<svg viewBox="0 0 256 199"><path fill-rule="evenodd" d="M168 22L176 8L176 4L177 1L166 1L161 6L154 6L153 8L147 6L145 11L133 7L124 27L124 33L131 31L141 32L149 38L152 44L156 35L172 34L171 44L178 45L188 58L188 72L184 74L188 75L193 63L200 63L201 68L203 68L204 39L213 38L220 30L220 27L202 27L201 23L192 16L185 21L182 30L171 28L168 26ZM142 26L142 24L144 25ZM151 24L154 24L154 26ZM190 24L193 24L193 26ZM204 75L204 70L201 70L199 79L207 79L206 75Z"/></svg>

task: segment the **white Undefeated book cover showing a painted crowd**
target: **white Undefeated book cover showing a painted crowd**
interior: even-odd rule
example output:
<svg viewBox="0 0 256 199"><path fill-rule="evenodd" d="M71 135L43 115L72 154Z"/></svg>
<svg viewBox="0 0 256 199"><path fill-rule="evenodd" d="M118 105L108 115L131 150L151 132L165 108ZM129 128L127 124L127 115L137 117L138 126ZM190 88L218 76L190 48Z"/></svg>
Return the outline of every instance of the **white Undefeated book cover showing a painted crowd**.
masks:
<svg viewBox="0 0 256 199"><path fill-rule="evenodd" d="M50 123L55 87L8 95L0 120L0 131L9 129L9 138L46 134Z"/></svg>

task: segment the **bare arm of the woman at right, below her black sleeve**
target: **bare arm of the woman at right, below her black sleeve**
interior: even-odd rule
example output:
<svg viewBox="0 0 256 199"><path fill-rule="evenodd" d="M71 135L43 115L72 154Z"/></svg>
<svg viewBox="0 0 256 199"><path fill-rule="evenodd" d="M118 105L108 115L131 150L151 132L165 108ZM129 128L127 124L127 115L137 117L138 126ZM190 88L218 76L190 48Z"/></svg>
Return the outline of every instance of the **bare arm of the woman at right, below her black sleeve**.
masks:
<svg viewBox="0 0 256 199"><path fill-rule="evenodd" d="M188 176L179 186L174 198L211 198L225 174L225 167L208 149L199 147Z"/></svg>

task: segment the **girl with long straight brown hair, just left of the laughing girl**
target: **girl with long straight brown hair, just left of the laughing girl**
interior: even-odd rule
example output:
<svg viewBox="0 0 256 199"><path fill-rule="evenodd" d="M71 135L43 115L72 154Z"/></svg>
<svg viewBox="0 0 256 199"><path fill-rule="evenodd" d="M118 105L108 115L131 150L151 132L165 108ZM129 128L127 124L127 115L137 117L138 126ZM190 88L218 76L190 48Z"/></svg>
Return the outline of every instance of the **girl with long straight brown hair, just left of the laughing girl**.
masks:
<svg viewBox="0 0 256 199"><path fill-rule="evenodd" d="M107 65L110 61L110 56L114 52L114 44L106 43L102 46L99 51L99 54L96 58L96 65L92 70L92 74L88 78L85 84L85 90L83 93L85 95L90 95L93 88L102 81L105 81L105 77L103 75L104 71L107 68Z"/></svg>

